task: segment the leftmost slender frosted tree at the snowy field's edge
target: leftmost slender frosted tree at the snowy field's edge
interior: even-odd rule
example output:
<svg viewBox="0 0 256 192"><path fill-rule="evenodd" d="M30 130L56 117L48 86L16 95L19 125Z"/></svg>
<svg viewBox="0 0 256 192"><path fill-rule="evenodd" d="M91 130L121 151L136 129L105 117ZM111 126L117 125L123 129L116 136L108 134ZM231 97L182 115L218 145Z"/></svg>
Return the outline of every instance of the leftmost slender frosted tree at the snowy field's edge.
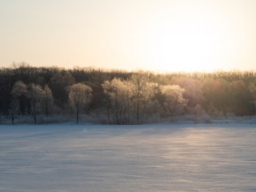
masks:
<svg viewBox="0 0 256 192"><path fill-rule="evenodd" d="M19 100L21 95L27 94L27 86L22 81L15 82L15 84L12 87L11 95L12 100L10 103L9 113L12 118L12 124L14 124L14 119L17 117L17 115L20 112L20 106L19 106Z"/></svg>

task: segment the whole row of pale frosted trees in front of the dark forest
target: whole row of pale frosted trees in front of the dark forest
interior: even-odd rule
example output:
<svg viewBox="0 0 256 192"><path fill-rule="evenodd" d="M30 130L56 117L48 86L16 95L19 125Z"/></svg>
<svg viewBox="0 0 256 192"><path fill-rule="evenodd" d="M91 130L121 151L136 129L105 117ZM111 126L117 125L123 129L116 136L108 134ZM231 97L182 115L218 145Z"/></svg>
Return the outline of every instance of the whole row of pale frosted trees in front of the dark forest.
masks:
<svg viewBox="0 0 256 192"><path fill-rule="evenodd" d="M106 108L109 124L140 123L141 119L156 115L160 106L163 106L166 116L181 115L188 102L183 98L185 89L181 89L179 85L158 86L141 72L133 74L127 81L114 78L111 81L104 81L101 86L105 95L105 105L102 108ZM81 114L88 110L93 90L89 85L76 83L66 86L66 91L69 110L75 114L78 123ZM54 110L52 91L47 84L43 89L38 84L26 85L18 81L14 84L11 94L9 111L12 124L20 113L30 114L36 124L37 114L43 113L47 116ZM162 105L156 94L162 95Z"/></svg>

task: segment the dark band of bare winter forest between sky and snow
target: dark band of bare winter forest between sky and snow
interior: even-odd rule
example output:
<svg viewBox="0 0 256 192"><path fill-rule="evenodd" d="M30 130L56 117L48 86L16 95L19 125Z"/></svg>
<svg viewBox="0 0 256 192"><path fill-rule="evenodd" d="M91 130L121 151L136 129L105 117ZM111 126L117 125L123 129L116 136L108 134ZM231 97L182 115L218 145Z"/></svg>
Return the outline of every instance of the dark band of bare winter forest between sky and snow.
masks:
<svg viewBox="0 0 256 192"><path fill-rule="evenodd" d="M142 124L254 116L256 71L0 68L0 123Z"/></svg>

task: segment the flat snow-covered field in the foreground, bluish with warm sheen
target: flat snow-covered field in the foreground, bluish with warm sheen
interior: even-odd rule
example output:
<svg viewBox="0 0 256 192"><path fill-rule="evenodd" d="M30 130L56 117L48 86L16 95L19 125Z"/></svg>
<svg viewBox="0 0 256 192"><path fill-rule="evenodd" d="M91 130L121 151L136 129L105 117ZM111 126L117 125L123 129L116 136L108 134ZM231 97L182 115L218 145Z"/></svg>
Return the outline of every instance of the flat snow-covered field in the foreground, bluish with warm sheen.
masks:
<svg viewBox="0 0 256 192"><path fill-rule="evenodd" d="M1 125L0 191L256 191L256 124Z"/></svg>

